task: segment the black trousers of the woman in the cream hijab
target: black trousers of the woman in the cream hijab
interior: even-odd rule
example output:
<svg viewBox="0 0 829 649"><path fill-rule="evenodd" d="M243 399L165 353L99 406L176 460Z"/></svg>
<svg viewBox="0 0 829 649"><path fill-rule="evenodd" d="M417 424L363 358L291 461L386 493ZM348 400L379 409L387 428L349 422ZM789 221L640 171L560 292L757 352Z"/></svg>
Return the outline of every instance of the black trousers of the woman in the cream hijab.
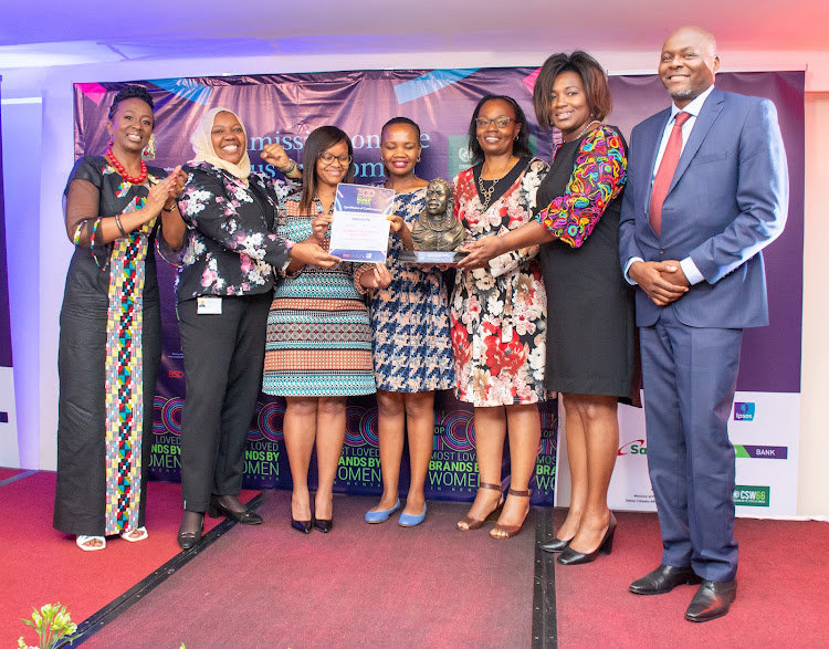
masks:
<svg viewBox="0 0 829 649"><path fill-rule="evenodd" d="M210 495L242 491L244 448L262 388L271 292L222 299L221 314L178 305L187 394L181 415L181 495L204 512Z"/></svg>

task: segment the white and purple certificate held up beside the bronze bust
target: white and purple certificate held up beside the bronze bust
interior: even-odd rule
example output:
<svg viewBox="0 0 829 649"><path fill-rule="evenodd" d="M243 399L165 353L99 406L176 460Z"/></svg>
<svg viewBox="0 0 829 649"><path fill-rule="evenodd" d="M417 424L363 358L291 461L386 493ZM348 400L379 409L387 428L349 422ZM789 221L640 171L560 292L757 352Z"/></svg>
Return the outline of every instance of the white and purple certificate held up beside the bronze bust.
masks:
<svg viewBox="0 0 829 649"><path fill-rule="evenodd" d="M330 224L332 254L344 261L385 263L389 250L388 217L395 190L365 185L337 185Z"/></svg>

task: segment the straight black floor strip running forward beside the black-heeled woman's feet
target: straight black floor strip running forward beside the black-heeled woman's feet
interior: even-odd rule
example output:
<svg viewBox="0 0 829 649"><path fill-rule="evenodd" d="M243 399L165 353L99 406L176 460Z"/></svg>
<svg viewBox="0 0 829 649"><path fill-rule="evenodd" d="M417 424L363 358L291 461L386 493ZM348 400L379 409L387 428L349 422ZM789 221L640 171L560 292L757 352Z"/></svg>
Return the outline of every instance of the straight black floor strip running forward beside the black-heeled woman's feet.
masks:
<svg viewBox="0 0 829 649"><path fill-rule="evenodd" d="M553 541L553 507L539 507L535 515L535 578L533 586L533 649L556 649L556 555L542 549Z"/></svg>

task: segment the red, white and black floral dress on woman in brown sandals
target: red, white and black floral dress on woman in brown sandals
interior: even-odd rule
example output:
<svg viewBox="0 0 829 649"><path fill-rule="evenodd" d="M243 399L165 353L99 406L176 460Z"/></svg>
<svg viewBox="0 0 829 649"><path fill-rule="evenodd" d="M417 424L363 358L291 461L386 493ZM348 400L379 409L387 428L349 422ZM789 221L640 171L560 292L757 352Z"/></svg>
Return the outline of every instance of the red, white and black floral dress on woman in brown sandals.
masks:
<svg viewBox="0 0 829 649"><path fill-rule="evenodd" d="M473 169L454 181L455 217L468 239L496 237L527 223L548 166L533 158L485 211ZM538 247L508 252L489 269L459 271L451 301L457 396L475 407L535 404L544 398L547 296Z"/></svg>

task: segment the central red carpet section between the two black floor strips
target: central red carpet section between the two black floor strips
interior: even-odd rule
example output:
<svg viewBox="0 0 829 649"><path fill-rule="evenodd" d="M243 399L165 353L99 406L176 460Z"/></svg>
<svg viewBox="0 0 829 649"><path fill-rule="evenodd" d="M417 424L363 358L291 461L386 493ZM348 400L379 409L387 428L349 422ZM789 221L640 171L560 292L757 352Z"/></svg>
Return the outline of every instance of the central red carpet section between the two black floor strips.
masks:
<svg viewBox="0 0 829 649"><path fill-rule="evenodd" d="M466 505L429 503L401 528L363 521L375 499L337 496L335 527L288 526L290 494L237 525L84 647L527 647L534 513L517 537L459 532Z"/></svg>

